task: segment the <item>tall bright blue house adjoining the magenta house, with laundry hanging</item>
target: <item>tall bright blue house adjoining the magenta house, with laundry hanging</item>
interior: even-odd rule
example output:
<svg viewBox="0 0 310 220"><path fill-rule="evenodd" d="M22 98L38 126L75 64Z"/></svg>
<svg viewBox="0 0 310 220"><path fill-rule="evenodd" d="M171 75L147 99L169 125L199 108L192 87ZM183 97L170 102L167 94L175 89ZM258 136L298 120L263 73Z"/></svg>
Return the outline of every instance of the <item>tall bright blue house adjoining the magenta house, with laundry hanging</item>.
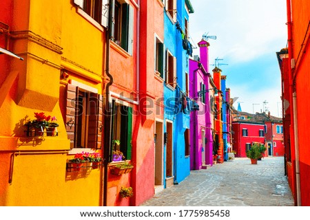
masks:
<svg viewBox="0 0 310 220"><path fill-rule="evenodd" d="M189 0L165 1L164 15L164 187L178 184L189 175ZM189 103L188 103L189 104Z"/></svg>

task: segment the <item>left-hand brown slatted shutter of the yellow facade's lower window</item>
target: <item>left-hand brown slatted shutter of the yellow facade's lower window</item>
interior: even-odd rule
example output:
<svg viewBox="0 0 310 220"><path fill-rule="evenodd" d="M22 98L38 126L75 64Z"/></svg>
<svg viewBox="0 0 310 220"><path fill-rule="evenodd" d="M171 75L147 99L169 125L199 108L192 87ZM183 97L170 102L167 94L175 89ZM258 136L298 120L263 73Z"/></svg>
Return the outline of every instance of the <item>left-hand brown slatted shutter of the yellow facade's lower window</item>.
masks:
<svg viewBox="0 0 310 220"><path fill-rule="evenodd" d="M79 87L68 84L67 85L67 112L65 117L65 129L67 131L68 139L70 140L70 148L76 147L75 141L75 122L76 122L76 108L77 96L79 94Z"/></svg>

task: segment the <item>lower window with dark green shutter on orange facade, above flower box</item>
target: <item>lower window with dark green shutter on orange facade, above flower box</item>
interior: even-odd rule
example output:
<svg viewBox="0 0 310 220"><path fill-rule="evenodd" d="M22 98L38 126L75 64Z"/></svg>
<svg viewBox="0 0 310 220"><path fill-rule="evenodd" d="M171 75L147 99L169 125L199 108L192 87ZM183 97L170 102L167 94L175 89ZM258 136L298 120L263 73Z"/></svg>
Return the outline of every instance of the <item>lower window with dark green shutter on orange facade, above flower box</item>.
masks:
<svg viewBox="0 0 310 220"><path fill-rule="evenodd" d="M132 107L112 102L112 140L121 144L113 150L121 151L126 159L132 158Z"/></svg>

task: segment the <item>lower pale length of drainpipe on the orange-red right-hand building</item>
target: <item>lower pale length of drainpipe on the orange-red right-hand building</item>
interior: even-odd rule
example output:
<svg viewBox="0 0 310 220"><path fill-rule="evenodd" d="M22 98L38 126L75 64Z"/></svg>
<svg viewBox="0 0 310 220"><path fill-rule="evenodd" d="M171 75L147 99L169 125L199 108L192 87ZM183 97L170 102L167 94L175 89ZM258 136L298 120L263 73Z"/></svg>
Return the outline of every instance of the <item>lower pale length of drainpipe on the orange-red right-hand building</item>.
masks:
<svg viewBox="0 0 310 220"><path fill-rule="evenodd" d="M297 96L296 96L296 91L293 93L293 115L294 115L295 162L296 162L296 196L297 196L297 206L301 206L299 148L298 148Z"/></svg>

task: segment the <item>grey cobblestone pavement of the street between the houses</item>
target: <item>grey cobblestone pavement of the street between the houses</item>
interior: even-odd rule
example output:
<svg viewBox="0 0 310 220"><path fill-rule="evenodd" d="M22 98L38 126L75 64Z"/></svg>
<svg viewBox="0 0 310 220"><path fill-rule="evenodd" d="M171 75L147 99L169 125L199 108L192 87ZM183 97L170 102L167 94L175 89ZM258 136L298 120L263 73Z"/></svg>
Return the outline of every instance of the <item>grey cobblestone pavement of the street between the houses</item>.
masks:
<svg viewBox="0 0 310 220"><path fill-rule="evenodd" d="M158 192L141 206L293 206L283 157L248 158L193 170L178 185Z"/></svg>

